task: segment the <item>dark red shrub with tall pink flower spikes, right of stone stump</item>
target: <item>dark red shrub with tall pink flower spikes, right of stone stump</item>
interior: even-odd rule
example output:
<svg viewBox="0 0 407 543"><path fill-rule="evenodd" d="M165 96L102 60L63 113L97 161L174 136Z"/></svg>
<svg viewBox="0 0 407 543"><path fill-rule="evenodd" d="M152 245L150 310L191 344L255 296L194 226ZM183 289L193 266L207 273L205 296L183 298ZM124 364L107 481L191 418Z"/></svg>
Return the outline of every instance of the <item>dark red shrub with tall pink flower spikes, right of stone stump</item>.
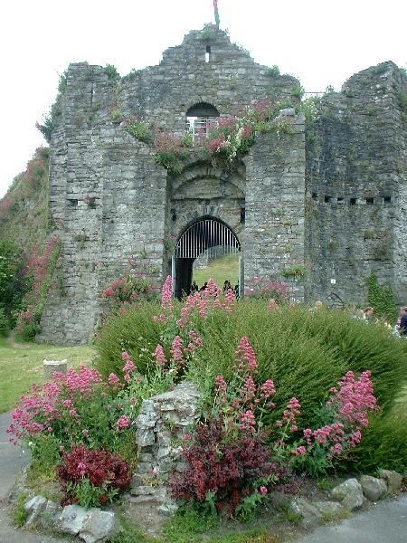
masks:
<svg viewBox="0 0 407 543"><path fill-rule="evenodd" d="M259 504L267 484L277 481L281 470L271 462L261 432L262 413L275 406L270 399L274 383L268 379L261 386L255 384L257 362L247 338L241 338L233 370L229 383L216 377L211 416L198 426L194 442L185 446L189 467L170 481L175 498L203 502L212 497L216 508L228 513L238 507L247 510L253 494L251 504Z"/></svg>

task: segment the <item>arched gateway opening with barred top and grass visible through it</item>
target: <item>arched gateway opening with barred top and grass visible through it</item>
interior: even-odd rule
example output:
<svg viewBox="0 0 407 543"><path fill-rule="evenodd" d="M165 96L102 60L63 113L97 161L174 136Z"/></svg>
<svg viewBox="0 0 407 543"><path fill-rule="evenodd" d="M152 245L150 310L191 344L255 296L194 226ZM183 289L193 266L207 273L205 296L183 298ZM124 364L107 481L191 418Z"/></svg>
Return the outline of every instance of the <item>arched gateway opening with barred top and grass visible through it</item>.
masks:
<svg viewBox="0 0 407 543"><path fill-rule="evenodd" d="M190 224L178 238L172 262L176 298L203 289L210 278L220 289L229 281L240 294L243 284L241 243L227 224L203 217Z"/></svg>

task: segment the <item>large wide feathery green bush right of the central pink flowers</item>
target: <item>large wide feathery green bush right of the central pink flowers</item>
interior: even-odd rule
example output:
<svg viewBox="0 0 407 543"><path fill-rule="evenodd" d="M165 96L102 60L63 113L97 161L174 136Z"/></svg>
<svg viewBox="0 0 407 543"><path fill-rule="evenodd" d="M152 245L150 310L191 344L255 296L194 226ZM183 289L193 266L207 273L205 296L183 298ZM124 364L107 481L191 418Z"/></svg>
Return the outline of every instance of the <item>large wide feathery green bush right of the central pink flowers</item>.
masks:
<svg viewBox="0 0 407 543"><path fill-rule="evenodd" d="M366 325L340 310L279 306L267 310L262 300L243 300L230 314L216 312L202 329L203 347L189 373L201 386L217 375L231 376L233 345L247 336L256 352L259 379L272 378L278 393L274 402L287 405L295 395L302 405L302 424L313 423L315 410L327 391L351 369L372 371L374 392L384 412L393 405L405 383L403 342L380 325ZM274 414L270 414L271 424Z"/></svg>

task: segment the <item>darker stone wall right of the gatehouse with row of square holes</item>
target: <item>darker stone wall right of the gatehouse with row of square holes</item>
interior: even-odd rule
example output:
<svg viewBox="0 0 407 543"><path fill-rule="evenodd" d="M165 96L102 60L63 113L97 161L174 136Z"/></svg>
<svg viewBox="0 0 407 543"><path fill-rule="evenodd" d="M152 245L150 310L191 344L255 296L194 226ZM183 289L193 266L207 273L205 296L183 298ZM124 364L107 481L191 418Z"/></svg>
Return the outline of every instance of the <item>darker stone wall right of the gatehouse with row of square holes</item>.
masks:
<svg viewBox="0 0 407 543"><path fill-rule="evenodd" d="M407 293L401 72L383 62L322 99L308 126L306 258L313 298L364 303L365 280ZM331 280L336 281L335 284Z"/></svg>

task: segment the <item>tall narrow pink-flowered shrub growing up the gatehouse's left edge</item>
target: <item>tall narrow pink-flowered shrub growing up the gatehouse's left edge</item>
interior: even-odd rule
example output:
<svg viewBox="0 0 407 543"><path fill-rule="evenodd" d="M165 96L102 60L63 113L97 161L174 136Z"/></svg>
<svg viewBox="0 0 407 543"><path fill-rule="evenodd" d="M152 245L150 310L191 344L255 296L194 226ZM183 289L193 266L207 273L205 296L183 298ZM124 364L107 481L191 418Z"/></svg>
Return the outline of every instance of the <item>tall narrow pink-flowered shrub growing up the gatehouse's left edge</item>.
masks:
<svg viewBox="0 0 407 543"><path fill-rule="evenodd" d="M31 340L41 330L40 320L52 286L61 242L52 236L41 255L33 253L26 263L25 275L31 278L31 290L24 296L22 310L17 319L16 332L24 340Z"/></svg>

